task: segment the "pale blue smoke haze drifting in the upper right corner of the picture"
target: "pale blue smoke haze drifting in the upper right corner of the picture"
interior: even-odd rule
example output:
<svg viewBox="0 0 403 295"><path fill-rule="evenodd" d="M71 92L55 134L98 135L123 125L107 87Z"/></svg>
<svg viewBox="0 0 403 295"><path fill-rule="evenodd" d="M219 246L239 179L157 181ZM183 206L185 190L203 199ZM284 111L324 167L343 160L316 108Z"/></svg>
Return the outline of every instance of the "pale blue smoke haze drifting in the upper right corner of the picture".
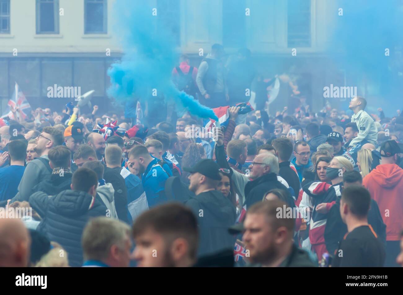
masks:
<svg viewBox="0 0 403 295"><path fill-rule="evenodd" d="M382 107L395 113L403 103L401 33L403 6L400 0L339 0L343 16L332 11L334 31L326 53L346 71L346 86L359 86L370 111ZM385 49L389 49L389 56Z"/></svg>

